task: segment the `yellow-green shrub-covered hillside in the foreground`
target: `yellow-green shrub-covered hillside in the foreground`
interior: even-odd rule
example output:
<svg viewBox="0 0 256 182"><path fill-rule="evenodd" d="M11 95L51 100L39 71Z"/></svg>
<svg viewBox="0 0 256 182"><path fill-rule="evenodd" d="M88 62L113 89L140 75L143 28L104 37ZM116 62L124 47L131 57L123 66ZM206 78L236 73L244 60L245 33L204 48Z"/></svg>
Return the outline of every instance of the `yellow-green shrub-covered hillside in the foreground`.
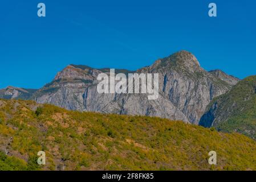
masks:
<svg viewBox="0 0 256 182"><path fill-rule="evenodd" d="M0 170L255 170L255 148L244 135L181 121L0 100Z"/></svg>

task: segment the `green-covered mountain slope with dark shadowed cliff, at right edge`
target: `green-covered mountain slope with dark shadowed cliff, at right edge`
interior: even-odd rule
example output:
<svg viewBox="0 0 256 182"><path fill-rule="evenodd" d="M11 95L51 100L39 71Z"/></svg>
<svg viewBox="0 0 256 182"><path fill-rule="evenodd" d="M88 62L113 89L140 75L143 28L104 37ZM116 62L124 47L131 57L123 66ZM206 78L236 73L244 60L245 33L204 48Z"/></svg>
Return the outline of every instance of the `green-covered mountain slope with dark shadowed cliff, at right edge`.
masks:
<svg viewBox="0 0 256 182"><path fill-rule="evenodd" d="M199 124L256 139L256 76L239 81L229 92L210 102Z"/></svg>

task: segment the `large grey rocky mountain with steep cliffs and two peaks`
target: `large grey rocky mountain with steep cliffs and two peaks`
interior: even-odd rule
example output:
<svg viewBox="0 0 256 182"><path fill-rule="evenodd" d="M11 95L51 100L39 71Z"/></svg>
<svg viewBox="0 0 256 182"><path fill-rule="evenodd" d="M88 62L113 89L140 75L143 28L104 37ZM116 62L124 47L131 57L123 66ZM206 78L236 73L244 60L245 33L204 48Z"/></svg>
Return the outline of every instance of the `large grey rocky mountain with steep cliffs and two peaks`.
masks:
<svg viewBox="0 0 256 182"><path fill-rule="evenodd" d="M116 69L116 73L135 73ZM226 93L239 80L224 72L207 72L192 53L180 51L159 59L136 73L159 73L159 98L147 94L99 94L97 75L109 69L68 65L55 79L32 94L40 104L54 104L69 110L148 115L198 124L213 98Z"/></svg>

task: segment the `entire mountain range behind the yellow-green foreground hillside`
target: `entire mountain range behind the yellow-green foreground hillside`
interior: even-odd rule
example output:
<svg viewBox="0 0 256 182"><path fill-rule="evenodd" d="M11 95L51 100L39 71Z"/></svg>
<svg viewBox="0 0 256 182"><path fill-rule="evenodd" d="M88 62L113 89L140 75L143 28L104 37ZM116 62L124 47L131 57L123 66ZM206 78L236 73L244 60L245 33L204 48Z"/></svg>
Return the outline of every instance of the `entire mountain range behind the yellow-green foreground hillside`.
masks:
<svg viewBox="0 0 256 182"><path fill-rule="evenodd" d="M205 71L187 51L176 52L137 71L116 69L116 73L125 74L159 73L159 98L148 100L147 94L97 93L96 78L100 73L109 73L109 68L71 64L41 89L9 86L0 90L0 98L34 100L68 110L169 118L255 138L254 115L246 115L246 119L243 116L255 105L254 77L240 81L221 70ZM244 84L247 82L250 86Z"/></svg>

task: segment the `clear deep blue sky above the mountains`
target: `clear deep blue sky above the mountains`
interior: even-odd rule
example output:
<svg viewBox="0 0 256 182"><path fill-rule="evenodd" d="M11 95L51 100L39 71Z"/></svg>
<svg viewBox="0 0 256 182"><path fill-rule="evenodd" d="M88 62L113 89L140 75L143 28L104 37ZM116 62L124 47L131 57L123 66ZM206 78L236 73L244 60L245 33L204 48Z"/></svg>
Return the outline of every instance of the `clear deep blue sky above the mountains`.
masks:
<svg viewBox="0 0 256 182"><path fill-rule="evenodd" d="M256 75L255 9L254 0L1 1L0 88L40 88L68 64L135 70L181 49L208 71Z"/></svg>

